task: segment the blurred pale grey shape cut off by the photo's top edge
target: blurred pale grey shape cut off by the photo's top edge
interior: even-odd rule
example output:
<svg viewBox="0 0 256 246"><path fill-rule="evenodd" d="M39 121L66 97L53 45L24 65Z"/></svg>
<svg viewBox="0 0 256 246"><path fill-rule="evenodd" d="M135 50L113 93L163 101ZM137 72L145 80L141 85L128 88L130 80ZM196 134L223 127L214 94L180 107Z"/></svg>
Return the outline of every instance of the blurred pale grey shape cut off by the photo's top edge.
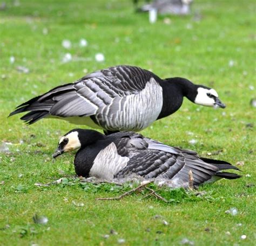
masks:
<svg viewBox="0 0 256 246"><path fill-rule="evenodd" d="M147 12L156 9L161 15L188 15L190 13L190 5L193 0L154 0L151 4L145 4L137 9L139 12ZM133 0L138 5L138 0Z"/></svg>

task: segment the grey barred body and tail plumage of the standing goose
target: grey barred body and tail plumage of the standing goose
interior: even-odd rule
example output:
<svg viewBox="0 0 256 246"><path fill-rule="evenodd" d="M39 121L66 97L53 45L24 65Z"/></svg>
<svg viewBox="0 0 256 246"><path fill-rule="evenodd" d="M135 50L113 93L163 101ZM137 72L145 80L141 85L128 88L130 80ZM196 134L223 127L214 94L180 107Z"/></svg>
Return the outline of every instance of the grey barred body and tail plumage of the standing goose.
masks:
<svg viewBox="0 0 256 246"><path fill-rule="evenodd" d="M93 116L99 128L142 130L157 120L163 106L162 88L154 77L138 67L102 69L21 104L10 116L30 111L22 117L29 124L42 117L72 122L76 120L72 117ZM86 124L87 120L79 122Z"/></svg>

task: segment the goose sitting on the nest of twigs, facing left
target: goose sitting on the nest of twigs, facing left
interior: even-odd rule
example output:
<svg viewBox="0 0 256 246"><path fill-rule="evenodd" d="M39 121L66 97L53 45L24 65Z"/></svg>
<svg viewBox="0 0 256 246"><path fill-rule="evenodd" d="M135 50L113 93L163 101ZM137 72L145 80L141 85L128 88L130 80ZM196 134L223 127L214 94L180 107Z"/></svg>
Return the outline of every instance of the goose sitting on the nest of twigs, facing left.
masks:
<svg viewBox="0 0 256 246"><path fill-rule="evenodd" d="M111 181L137 175L167 181L175 187L187 186L190 170L194 185L240 177L223 172L238 170L226 161L201 158L192 150L171 147L135 132L123 131L105 136L94 130L73 129L60 138L53 158L76 149L79 150L74 161L75 171L83 177Z"/></svg>

